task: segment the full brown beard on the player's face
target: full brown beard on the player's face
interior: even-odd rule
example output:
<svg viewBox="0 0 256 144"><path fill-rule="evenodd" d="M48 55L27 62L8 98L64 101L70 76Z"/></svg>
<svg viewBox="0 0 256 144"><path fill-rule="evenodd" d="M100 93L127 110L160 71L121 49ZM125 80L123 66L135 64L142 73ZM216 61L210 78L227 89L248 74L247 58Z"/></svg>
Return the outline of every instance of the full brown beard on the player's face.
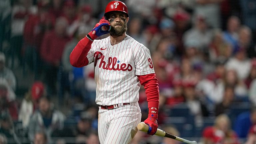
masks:
<svg viewBox="0 0 256 144"><path fill-rule="evenodd" d="M116 25L121 25L118 27L115 27ZM127 23L124 21L124 24L120 23L115 23L114 25L111 25L111 29L109 31L111 36L121 36L127 31Z"/></svg>

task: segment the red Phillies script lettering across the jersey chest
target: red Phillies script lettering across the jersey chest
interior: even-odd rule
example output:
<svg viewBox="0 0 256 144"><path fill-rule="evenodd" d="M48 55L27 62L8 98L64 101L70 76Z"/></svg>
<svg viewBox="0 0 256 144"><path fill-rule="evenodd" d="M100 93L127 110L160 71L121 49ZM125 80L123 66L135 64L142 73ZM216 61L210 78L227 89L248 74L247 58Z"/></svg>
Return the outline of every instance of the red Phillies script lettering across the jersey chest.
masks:
<svg viewBox="0 0 256 144"><path fill-rule="evenodd" d="M100 60L99 68L103 68L105 70L114 70L114 71L132 71L132 65L131 64L117 64L117 58L116 57L109 57L108 62L104 61L105 56L102 54L102 52L95 52L94 53L95 63L94 67L97 66L98 60Z"/></svg>

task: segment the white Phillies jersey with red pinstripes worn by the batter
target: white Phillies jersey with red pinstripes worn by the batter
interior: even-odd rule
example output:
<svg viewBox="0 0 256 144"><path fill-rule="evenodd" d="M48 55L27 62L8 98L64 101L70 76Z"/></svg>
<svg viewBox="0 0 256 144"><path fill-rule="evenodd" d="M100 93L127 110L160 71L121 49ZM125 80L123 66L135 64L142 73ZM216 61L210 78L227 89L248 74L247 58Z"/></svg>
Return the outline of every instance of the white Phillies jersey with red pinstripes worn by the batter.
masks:
<svg viewBox="0 0 256 144"><path fill-rule="evenodd" d="M110 37L94 40L87 58L89 64L94 62L98 105L137 102L137 75L155 73L149 49L128 35L114 46Z"/></svg>

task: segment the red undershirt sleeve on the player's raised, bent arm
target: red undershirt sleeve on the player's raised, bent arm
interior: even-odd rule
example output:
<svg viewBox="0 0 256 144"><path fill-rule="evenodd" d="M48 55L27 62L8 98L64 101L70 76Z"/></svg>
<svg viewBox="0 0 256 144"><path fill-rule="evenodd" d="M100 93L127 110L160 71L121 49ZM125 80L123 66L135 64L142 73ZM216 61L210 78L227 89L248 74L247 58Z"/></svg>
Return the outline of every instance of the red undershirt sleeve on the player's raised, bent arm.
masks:
<svg viewBox="0 0 256 144"><path fill-rule="evenodd" d="M91 49L92 41L89 40L87 37L81 39L76 47L71 52L70 64L74 67L83 67L88 65L89 61L86 57L89 50Z"/></svg>

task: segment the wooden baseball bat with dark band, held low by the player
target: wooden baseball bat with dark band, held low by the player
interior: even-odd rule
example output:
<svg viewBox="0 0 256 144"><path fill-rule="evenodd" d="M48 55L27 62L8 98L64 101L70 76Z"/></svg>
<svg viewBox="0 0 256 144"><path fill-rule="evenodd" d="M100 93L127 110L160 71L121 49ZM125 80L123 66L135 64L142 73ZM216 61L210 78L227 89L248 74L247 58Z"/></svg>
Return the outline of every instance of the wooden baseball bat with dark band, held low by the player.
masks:
<svg viewBox="0 0 256 144"><path fill-rule="evenodd" d="M138 124L137 128L140 131L148 132L149 126L147 124L145 124L144 122L141 122L141 123ZM161 137L168 137L168 138L175 139L175 140L187 143L187 144L197 144L196 141L189 141L189 140L186 140L186 139L183 139L183 138L171 135L171 134L169 134L169 133L167 133L167 132L165 132L163 130L160 130L160 129L157 129L155 135L161 136Z"/></svg>

